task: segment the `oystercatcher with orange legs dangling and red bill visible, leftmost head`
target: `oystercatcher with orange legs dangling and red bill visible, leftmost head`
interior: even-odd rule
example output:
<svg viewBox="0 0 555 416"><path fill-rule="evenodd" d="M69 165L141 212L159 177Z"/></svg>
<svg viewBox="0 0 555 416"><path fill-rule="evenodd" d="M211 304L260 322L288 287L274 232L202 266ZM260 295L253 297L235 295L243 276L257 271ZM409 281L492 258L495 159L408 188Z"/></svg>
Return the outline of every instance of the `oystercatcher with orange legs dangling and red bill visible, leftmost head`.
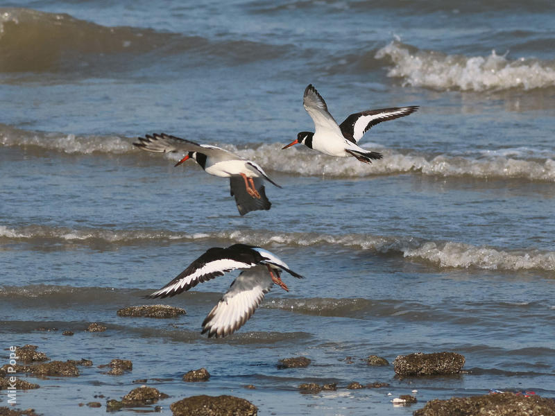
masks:
<svg viewBox="0 0 555 416"><path fill-rule="evenodd" d="M133 145L150 152L187 153L176 166L187 159L194 159L206 173L229 177L230 193L235 198L241 216L257 209L270 209L271 202L266 197L264 180L281 188L255 162L217 146L198 144L164 133L139 137L139 141Z"/></svg>

